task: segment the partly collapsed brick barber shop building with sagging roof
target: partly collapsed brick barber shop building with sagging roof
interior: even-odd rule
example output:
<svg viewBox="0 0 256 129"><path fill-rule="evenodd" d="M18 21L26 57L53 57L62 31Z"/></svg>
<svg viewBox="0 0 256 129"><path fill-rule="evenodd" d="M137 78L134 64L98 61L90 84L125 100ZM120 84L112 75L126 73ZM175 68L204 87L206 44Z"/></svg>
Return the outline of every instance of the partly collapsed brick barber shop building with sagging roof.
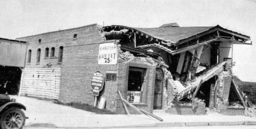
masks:
<svg viewBox="0 0 256 129"><path fill-rule="evenodd" d="M219 25L94 24L18 39L29 43L23 95L93 105L92 76L99 71L104 79L97 103L105 98L106 109L117 113L125 112L118 91L148 112L205 114L207 107L242 115L251 107L232 81L231 70L233 44L251 45L250 37ZM52 54L55 51L58 55ZM136 112L129 106L128 110Z"/></svg>

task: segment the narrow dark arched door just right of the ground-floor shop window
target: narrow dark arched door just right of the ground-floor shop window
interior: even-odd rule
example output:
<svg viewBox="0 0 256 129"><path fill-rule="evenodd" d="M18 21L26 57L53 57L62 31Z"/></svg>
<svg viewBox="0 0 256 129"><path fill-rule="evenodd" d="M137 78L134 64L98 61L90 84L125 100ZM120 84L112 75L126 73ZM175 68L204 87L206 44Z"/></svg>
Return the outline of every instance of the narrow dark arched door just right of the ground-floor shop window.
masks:
<svg viewBox="0 0 256 129"><path fill-rule="evenodd" d="M154 94L154 107L153 109L162 109L162 97L163 97L163 71L160 68L156 69L155 80L155 94Z"/></svg>

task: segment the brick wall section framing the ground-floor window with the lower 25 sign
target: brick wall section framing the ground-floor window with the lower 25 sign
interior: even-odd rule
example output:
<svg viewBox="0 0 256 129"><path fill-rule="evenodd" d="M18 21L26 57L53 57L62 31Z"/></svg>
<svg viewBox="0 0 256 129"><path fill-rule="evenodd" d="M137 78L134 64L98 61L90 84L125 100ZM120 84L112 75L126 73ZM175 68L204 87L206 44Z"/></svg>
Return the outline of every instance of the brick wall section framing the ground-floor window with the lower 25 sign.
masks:
<svg viewBox="0 0 256 129"><path fill-rule="evenodd" d="M120 52L120 51L119 51ZM124 99L127 98L127 89L128 89L128 75L129 67L138 67L145 68L146 75L144 77L144 88L142 94L142 102L136 103L140 109L144 109L148 112L153 112L154 105L154 90L155 90L155 74L156 74L156 65L151 64L145 57L135 57L130 60L123 60L119 57L118 59L118 74L117 74L117 90L121 92L121 95ZM118 95L116 98L116 112L124 114L124 107L121 102L121 98ZM131 114L137 114L137 112L127 105L127 108Z"/></svg>

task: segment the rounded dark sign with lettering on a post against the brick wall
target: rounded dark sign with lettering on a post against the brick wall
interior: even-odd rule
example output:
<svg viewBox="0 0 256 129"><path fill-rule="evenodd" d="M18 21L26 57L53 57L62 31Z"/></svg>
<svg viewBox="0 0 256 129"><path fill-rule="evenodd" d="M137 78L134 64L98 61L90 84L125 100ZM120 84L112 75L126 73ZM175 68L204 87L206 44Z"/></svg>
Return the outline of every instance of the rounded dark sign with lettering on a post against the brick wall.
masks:
<svg viewBox="0 0 256 129"><path fill-rule="evenodd" d="M92 77L92 90L93 95L99 96L99 92L103 89L104 78L100 71L96 71Z"/></svg>

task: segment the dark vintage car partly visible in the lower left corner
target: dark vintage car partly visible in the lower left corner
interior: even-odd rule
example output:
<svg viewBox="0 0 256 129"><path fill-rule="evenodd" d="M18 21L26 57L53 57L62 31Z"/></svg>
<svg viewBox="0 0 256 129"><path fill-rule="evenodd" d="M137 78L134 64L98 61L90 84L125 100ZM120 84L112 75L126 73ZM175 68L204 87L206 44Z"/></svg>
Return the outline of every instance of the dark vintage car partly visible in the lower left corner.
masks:
<svg viewBox="0 0 256 129"><path fill-rule="evenodd" d="M25 124L26 107L8 95L0 94L0 125L2 129L22 128Z"/></svg>

